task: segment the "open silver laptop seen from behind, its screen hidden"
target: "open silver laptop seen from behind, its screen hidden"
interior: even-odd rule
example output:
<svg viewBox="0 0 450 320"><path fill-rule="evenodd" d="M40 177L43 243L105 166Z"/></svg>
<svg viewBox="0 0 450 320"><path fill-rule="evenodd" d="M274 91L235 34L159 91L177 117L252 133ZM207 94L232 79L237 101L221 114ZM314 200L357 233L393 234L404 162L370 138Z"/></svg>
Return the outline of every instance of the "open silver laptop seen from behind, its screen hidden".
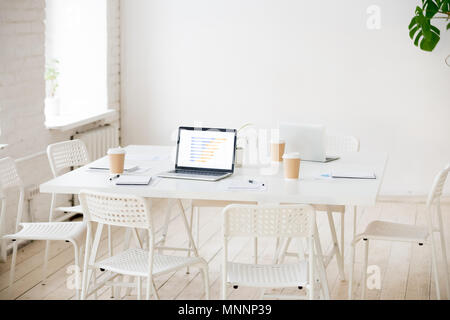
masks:
<svg viewBox="0 0 450 320"><path fill-rule="evenodd" d="M302 161L329 162L339 157L325 153L325 126L280 123L280 138L285 140L285 152L298 152Z"/></svg>

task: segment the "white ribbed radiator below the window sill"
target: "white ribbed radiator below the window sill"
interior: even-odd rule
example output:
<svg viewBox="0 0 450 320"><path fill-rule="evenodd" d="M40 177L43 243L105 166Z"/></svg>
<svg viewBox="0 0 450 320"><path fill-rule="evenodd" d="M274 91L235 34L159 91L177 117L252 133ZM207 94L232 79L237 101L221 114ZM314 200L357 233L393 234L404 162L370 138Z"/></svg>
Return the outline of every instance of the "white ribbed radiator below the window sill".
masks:
<svg viewBox="0 0 450 320"><path fill-rule="evenodd" d="M91 161L105 156L109 148L119 146L119 133L115 126L103 126L77 133L73 138L86 144Z"/></svg>

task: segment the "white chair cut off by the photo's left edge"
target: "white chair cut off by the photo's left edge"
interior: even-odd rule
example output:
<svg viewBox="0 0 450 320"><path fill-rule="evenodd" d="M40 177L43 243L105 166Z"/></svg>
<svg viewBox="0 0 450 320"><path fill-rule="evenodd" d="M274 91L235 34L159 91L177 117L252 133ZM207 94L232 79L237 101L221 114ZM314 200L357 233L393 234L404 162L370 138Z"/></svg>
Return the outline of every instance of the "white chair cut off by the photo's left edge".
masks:
<svg viewBox="0 0 450 320"><path fill-rule="evenodd" d="M75 253L76 281L80 279L80 256L81 244L84 237L85 224L83 222L36 222L21 223L24 202L24 186L17 172L16 164L11 158L0 160L0 195L2 200L1 221L5 221L6 196L5 191L9 189L19 190L19 203L16 217L15 233L4 236L14 242L11 259L11 270L9 278L9 290L14 283L15 266L17 257L17 241L21 240L63 240L72 243ZM47 257L46 257L47 259ZM44 265L46 267L46 263ZM45 274L45 271L44 271ZM77 283L76 295L79 297L80 285Z"/></svg>

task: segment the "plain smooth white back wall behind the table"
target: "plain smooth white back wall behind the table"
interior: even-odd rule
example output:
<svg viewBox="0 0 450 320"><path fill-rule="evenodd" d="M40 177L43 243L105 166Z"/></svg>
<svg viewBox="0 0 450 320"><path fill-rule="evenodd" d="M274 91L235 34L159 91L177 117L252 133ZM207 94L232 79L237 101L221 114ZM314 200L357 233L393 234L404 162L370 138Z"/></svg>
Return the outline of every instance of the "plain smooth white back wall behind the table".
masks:
<svg viewBox="0 0 450 320"><path fill-rule="evenodd" d="M425 194L450 162L450 33L431 54L414 47L417 3L122 0L123 144L198 121L324 123L389 153L382 194Z"/></svg>

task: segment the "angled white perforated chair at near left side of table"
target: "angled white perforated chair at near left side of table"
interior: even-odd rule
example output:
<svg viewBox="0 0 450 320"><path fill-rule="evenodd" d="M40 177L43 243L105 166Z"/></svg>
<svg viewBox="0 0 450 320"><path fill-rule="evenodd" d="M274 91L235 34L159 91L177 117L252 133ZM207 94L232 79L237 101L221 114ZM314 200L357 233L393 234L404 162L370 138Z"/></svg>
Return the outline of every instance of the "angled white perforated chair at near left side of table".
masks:
<svg viewBox="0 0 450 320"><path fill-rule="evenodd" d="M146 298L153 294L157 299L158 293L154 285L154 277L173 272L187 266L197 266L201 269L205 285L206 298L209 299L208 264L198 257L195 250L194 257L171 256L155 253L153 217L150 211L151 202L142 197L132 195L108 194L100 192L82 191L80 202L88 225L86 238L86 255L84 262L82 299L96 293L104 285L137 287L137 297L141 298L141 278L146 278ZM95 237L92 240L93 223L97 223ZM137 240L137 248L124 245L124 250L112 257L97 261L97 250L101 234L105 225L124 227L131 230ZM136 229L143 230L148 237L148 250L142 248ZM195 245L194 245L195 246ZM103 279L97 283L94 272L94 288L89 291L93 271L100 269L108 271L102 275ZM135 277L137 284L114 282L117 276ZM100 279L99 279L100 280Z"/></svg>

